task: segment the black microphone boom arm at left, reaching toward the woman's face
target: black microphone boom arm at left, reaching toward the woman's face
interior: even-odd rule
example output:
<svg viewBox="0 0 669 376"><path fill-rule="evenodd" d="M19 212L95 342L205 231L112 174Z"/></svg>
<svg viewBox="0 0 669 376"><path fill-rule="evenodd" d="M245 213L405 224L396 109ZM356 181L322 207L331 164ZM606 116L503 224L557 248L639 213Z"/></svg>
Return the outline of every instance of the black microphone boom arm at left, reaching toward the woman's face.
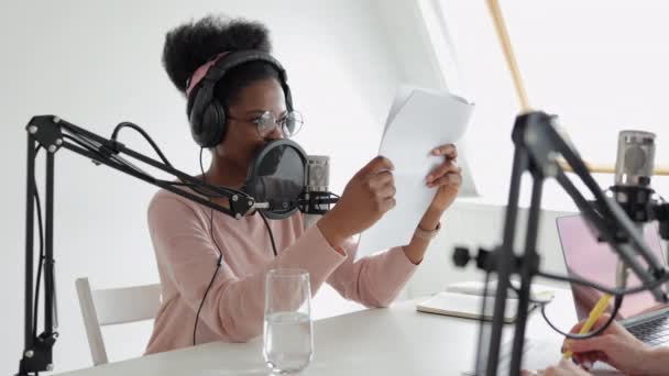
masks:
<svg viewBox="0 0 669 376"><path fill-rule="evenodd" d="M265 203L255 202L248 193L226 187L217 187L195 178L174 168L166 159L157 162L138 152L125 147L116 140L108 140L86 131L77 125L54 115L33 117L26 125L28 131L28 181L26 181L26 211L25 211L25 305L24 305L24 346L19 364L18 375L36 374L53 369L53 346L58 336L55 320L55 288L54 288L54 258L53 258L53 222L54 222L54 165L55 154L66 148L75 154L88 157L97 165L107 165L121 173L146 181L154 186L169 190L188 200L200 203L230 217L240 219L245 213L262 208ZM33 302L33 243L34 243L34 203L36 197L35 157L40 147L46 151L46 199L45 199L45 229L44 255L40 263L44 266L44 332L36 335L37 301ZM124 154L141 163L157 168L182 183L173 183L154 178L144 173L119 154ZM190 187L195 191L209 197L223 197L229 199L229 208L213 202L208 198L195 195L179 187ZM39 283L39 281L37 281ZM36 286L39 288L39 285Z"/></svg>

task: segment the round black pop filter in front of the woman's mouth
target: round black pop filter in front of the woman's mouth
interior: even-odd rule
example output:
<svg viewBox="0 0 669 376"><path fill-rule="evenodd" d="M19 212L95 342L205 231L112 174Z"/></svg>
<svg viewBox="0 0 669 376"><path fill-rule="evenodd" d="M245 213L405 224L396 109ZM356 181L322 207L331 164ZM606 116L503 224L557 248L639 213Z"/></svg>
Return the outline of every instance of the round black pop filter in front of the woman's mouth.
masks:
<svg viewBox="0 0 669 376"><path fill-rule="evenodd" d="M288 139L268 142L255 156L243 190L256 202L267 202L260 209L270 219L284 219L297 209L297 200L305 190L307 155Z"/></svg>

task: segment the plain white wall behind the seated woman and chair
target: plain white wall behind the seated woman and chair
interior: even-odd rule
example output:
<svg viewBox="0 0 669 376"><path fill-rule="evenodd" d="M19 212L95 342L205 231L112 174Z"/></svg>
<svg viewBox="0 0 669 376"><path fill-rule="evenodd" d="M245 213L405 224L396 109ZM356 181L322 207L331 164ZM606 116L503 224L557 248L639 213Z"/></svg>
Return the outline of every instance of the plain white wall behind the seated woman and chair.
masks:
<svg viewBox="0 0 669 376"><path fill-rule="evenodd" d="M209 11L257 19L273 32L295 103L305 114L297 141L307 152L331 155L331 181L340 191L375 154L385 112L403 79L376 5L357 0L2 2L0 286L6 308L0 320L0 373L17 372L23 347L23 128L32 115L58 114L106 136L118 122L133 121L178 168L195 174L198 148L187 130L184 99L161 66L164 34ZM122 133L122 139L153 155L131 132ZM67 151L58 153L56 371L90 364L76 277L89 276L95 287L157 280L145 225L146 203L154 190ZM322 292L325 298L315 301L316 316L353 307L331 291ZM146 343L146 329L136 328L132 341L128 332L108 333L110 357L136 355Z"/></svg>

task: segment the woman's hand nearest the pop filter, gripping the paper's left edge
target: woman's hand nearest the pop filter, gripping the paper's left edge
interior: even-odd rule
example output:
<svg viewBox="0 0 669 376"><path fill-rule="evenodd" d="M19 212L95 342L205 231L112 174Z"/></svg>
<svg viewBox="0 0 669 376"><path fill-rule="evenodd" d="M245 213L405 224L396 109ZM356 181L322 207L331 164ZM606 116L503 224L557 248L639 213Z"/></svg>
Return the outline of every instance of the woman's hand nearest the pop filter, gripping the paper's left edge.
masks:
<svg viewBox="0 0 669 376"><path fill-rule="evenodd" d="M395 207L393 169L388 158L377 156L349 180L334 208L317 224L330 245L341 245Z"/></svg>

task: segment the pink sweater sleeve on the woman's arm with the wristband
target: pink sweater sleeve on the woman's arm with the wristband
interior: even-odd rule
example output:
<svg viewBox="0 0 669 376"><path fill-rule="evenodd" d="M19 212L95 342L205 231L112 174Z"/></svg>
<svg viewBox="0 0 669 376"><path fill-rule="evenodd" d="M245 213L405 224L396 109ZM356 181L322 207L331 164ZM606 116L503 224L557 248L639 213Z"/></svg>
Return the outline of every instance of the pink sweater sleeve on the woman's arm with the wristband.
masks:
<svg viewBox="0 0 669 376"><path fill-rule="evenodd" d="M366 307L387 307L409 280L416 265L402 247L394 247L358 262L358 244L352 239L344 244L347 259L330 275L328 283L344 298Z"/></svg>

